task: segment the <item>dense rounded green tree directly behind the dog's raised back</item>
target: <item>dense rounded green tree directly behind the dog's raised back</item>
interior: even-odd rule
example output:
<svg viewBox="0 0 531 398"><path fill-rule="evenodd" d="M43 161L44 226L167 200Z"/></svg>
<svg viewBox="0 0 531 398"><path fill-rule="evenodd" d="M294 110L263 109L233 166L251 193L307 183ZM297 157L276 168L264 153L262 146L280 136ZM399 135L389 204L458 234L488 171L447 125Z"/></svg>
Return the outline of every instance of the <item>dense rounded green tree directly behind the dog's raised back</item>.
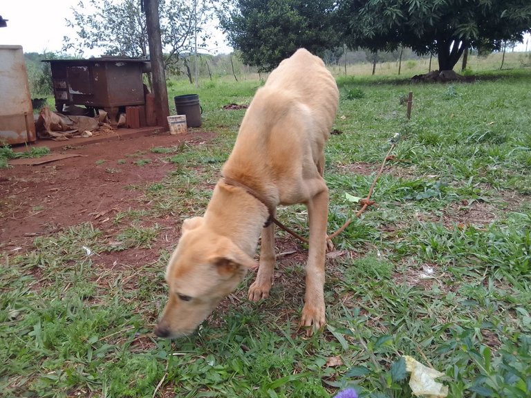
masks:
<svg viewBox="0 0 531 398"><path fill-rule="evenodd" d="M260 72L304 47L322 55L335 48L333 0L234 0L220 17L230 44Z"/></svg>

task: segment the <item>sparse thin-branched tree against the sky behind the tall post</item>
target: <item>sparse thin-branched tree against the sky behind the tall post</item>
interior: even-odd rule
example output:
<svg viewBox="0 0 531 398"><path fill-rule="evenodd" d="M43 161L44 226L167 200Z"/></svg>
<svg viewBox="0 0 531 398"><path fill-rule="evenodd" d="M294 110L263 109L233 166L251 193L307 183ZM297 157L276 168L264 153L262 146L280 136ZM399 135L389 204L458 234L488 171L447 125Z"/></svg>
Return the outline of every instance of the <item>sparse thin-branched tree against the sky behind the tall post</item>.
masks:
<svg viewBox="0 0 531 398"><path fill-rule="evenodd" d="M147 59L149 46L142 0L80 0L73 20L66 25L77 37L64 37L63 50L82 55L86 49L101 48L104 55ZM205 25L214 16L216 0L159 0L160 34L165 66L178 62L180 53L192 52L196 35L205 46Z"/></svg>

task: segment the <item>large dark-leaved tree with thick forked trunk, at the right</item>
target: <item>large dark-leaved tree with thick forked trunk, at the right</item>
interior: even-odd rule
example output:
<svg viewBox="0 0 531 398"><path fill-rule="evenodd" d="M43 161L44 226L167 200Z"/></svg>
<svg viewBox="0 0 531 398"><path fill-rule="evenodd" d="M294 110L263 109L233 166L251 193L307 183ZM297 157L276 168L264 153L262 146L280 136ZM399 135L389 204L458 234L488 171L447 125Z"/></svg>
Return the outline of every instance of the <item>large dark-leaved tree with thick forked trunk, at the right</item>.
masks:
<svg viewBox="0 0 531 398"><path fill-rule="evenodd" d="M454 68L465 48L500 50L531 30L529 0L342 0L338 20L349 46L410 47Z"/></svg>

